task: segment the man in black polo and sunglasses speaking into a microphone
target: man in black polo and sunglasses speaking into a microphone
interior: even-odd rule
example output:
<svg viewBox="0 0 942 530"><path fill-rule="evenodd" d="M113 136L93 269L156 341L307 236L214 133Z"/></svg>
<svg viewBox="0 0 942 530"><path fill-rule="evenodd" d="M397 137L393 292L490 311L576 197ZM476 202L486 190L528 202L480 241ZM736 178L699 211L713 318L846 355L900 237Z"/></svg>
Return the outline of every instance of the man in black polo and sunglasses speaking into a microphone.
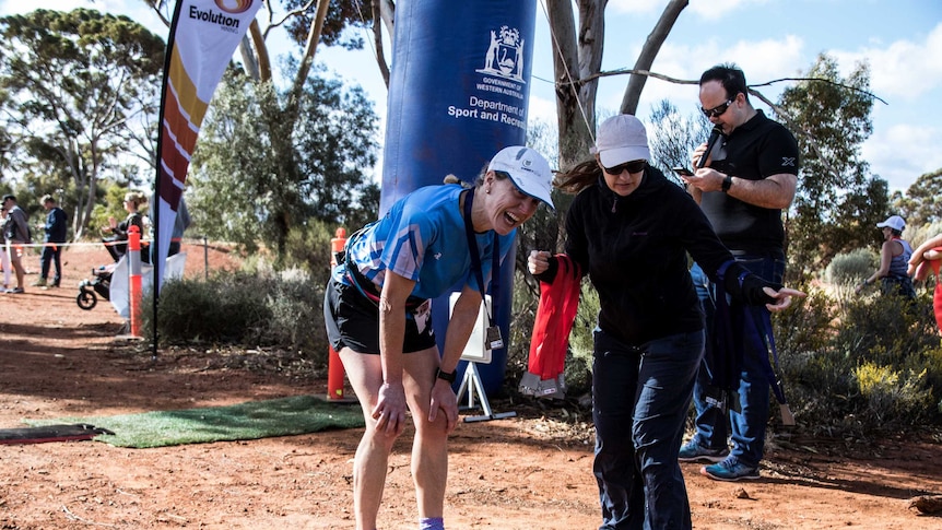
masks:
<svg viewBox="0 0 942 530"><path fill-rule="evenodd" d="M687 189L737 261L767 281L781 283L785 273L781 211L794 198L798 143L785 127L752 106L745 75L739 68L714 67L700 76L699 87L703 111L722 130L722 136L709 142L709 153L707 144L694 152L694 167L700 166L704 156L707 164L685 178ZM713 285L699 267L694 266L691 274L709 319L715 299ZM762 322L762 317L756 317ZM729 407L731 450L727 448L728 427L722 409L706 399L710 377L704 366L694 388L697 433L681 448L679 459L715 462L700 470L710 479L758 478L769 411L765 370L768 352L750 348L745 339L743 344L739 403Z"/></svg>

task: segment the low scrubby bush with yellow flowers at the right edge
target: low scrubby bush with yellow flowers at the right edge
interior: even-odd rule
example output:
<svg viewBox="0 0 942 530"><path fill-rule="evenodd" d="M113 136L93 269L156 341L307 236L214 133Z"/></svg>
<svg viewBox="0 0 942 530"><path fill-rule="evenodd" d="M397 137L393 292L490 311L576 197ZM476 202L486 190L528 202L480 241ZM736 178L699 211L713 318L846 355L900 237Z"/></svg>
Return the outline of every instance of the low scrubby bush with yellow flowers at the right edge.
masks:
<svg viewBox="0 0 942 530"><path fill-rule="evenodd" d="M864 436L942 424L935 404L942 396L942 345L928 293L915 302L896 295L851 298L833 319L822 306L838 304L812 291L808 302L776 317L786 392L805 432ZM815 326L809 333L815 339L791 344L782 319Z"/></svg>

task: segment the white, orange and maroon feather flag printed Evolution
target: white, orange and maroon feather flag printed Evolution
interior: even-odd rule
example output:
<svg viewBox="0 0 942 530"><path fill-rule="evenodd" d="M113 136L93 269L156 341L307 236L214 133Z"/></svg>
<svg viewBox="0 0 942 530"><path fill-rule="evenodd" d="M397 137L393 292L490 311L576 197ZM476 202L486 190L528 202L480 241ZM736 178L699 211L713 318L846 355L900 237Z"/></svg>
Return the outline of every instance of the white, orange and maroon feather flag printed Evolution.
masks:
<svg viewBox="0 0 942 530"><path fill-rule="evenodd" d="M154 285L160 293L187 167L210 101L262 0L178 0L167 38L154 182ZM156 305L156 296L154 296Z"/></svg>

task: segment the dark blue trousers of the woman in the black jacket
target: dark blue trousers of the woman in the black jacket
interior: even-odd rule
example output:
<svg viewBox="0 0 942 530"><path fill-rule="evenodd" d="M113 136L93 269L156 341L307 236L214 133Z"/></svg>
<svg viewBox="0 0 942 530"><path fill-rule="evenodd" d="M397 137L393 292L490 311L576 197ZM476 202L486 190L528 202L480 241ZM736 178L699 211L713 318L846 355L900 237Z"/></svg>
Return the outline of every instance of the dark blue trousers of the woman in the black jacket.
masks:
<svg viewBox="0 0 942 530"><path fill-rule="evenodd" d="M704 340L696 331L633 348L596 329L592 470L601 530L691 528L678 452Z"/></svg>

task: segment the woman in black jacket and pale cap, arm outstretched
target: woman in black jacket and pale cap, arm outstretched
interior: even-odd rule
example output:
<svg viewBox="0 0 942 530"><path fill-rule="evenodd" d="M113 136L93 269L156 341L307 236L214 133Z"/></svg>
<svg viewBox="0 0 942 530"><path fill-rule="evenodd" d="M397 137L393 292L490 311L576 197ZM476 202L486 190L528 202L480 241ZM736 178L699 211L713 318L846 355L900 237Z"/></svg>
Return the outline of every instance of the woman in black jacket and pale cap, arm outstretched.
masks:
<svg viewBox="0 0 942 530"><path fill-rule="evenodd" d="M804 294L737 263L693 199L648 164L647 132L636 117L602 122L592 153L557 187L577 193L565 254L599 294L592 356L599 528L691 528L678 451L705 334L687 252L746 304L778 311ZM533 250L528 268L552 283L558 258Z"/></svg>

